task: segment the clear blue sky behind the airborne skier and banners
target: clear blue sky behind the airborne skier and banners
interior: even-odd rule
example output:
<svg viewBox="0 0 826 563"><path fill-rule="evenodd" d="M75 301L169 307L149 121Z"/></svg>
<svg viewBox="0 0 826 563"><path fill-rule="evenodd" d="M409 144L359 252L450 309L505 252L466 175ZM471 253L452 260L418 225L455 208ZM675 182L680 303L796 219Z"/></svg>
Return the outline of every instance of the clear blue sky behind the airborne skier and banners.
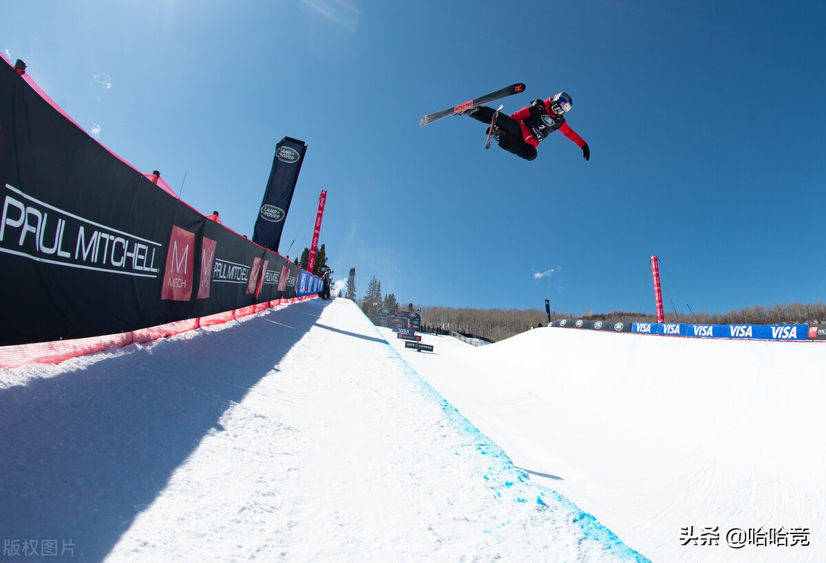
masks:
<svg viewBox="0 0 826 563"><path fill-rule="evenodd" d="M730 5L729 5L730 4ZM251 236L275 144L308 145L282 254L320 242L402 303L724 312L826 294L826 4L3 2L0 50L85 130ZM527 162L463 116L564 90L591 147ZM185 180L184 180L185 177ZM292 241L295 240L295 243ZM288 251L290 244L292 249Z"/></svg>

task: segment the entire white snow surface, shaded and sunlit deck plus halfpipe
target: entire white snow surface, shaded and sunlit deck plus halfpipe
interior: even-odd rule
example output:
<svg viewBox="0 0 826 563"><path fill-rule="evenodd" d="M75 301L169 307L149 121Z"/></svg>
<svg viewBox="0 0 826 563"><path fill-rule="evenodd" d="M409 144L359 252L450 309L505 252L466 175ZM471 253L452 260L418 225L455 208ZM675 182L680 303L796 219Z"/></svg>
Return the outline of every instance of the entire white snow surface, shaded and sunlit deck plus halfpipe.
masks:
<svg viewBox="0 0 826 563"><path fill-rule="evenodd" d="M0 370L4 560L826 561L826 346L394 337L311 300Z"/></svg>

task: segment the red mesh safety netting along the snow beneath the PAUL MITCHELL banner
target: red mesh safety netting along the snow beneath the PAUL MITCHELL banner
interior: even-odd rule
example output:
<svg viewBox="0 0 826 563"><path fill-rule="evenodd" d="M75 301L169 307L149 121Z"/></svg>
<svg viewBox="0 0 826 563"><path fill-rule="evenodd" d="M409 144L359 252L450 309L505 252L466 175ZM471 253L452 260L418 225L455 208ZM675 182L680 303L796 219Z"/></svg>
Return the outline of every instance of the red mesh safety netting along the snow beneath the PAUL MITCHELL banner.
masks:
<svg viewBox="0 0 826 563"><path fill-rule="evenodd" d="M0 368L21 367L30 364L56 364L73 357L106 352L107 350L123 348L133 343L150 343L159 338L169 338L170 336L199 329L203 326L224 324L230 320L255 315L256 313L261 313L278 305L289 305L296 301L315 298L316 296L304 296L267 301L242 307L241 309L225 311L216 315L178 320L174 323L160 324L159 326L133 330L128 333L107 334L106 336L77 338L74 340L58 340L55 342L21 344L19 346L2 346L0 347Z"/></svg>

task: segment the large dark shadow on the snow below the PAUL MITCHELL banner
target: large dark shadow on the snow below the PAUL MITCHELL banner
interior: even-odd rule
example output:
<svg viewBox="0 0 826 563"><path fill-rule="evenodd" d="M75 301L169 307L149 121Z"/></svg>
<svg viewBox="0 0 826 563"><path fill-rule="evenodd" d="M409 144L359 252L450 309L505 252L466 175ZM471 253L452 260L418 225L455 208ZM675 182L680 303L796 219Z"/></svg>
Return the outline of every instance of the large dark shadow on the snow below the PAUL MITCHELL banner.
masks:
<svg viewBox="0 0 826 563"><path fill-rule="evenodd" d="M0 390L2 539L56 541L58 554L68 542L74 561L104 559L327 305L306 301L230 329L131 346Z"/></svg>

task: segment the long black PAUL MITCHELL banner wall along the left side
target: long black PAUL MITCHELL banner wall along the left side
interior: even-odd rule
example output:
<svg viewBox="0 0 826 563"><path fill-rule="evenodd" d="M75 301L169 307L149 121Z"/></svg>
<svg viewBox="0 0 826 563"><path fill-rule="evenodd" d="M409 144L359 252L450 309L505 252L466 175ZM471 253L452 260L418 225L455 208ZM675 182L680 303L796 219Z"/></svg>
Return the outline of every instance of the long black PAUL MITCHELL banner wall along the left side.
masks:
<svg viewBox="0 0 826 563"><path fill-rule="evenodd" d="M157 187L0 62L0 346L312 295L320 280Z"/></svg>

